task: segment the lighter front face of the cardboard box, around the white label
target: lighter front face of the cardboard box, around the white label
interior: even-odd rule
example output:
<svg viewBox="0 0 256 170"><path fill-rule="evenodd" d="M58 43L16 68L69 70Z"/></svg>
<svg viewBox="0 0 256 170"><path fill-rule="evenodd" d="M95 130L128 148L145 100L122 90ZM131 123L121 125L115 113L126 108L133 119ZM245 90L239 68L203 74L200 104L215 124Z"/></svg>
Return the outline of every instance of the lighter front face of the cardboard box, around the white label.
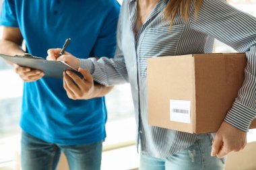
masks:
<svg viewBox="0 0 256 170"><path fill-rule="evenodd" d="M148 69L150 124L162 128L172 128L174 130L183 128L186 131L191 131L192 124L170 122L169 102L170 96L174 96L174 99L194 101L195 74L191 73L194 70L193 57L191 55L186 58L161 57L159 59L152 58L152 61L148 62L148 68L150 68ZM179 65L179 63L183 63L183 65ZM179 74L177 74L176 70L179 70ZM163 80L164 83L162 83Z"/></svg>

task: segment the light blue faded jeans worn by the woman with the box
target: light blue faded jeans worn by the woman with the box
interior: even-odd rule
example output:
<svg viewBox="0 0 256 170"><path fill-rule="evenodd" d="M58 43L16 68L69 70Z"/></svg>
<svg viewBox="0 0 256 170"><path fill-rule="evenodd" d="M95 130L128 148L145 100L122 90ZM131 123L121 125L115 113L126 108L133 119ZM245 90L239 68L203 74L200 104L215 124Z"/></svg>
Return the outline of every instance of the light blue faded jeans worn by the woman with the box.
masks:
<svg viewBox="0 0 256 170"><path fill-rule="evenodd" d="M222 170L224 159L211 157L210 134L199 134L189 148L166 159L140 155L140 170Z"/></svg>

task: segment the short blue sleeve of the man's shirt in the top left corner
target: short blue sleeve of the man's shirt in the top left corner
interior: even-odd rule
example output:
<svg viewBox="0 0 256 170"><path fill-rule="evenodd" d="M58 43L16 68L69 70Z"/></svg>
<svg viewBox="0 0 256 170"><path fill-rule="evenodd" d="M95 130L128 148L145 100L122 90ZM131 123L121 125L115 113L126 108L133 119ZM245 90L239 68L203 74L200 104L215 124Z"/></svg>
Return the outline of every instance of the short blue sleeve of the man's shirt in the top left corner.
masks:
<svg viewBox="0 0 256 170"><path fill-rule="evenodd" d="M0 25L7 27L19 27L16 17L14 0L3 1L0 16Z"/></svg>

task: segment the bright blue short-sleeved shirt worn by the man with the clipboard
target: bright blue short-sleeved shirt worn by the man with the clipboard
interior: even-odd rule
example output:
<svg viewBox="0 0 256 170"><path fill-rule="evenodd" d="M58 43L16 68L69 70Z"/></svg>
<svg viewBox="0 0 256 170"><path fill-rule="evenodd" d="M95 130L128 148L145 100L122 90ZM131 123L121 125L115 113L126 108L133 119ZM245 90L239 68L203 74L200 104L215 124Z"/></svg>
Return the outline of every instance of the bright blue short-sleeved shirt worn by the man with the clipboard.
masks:
<svg viewBox="0 0 256 170"><path fill-rule="evenodd" d="M79 58L114 56L119 15L116 0L5 0L0 24L18 27L34 56L61 48ZM63 80L42 78L24 83L22 129L46 142L89 144L106 137L104 97L73 100Z"/></svg>

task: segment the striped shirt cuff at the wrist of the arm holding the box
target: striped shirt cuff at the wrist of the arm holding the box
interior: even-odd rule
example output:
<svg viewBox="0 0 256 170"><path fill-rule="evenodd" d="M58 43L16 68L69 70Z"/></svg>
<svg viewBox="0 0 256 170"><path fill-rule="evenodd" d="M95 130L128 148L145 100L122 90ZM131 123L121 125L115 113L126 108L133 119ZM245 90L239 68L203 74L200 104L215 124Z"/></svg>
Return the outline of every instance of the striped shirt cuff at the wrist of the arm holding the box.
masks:
<svg viewBox="0 0 256 170"><path fill-rule="evenodd" d="M238 128L239 130L248 132L251 122L255 116L255 110L251 110L242 103L234 101L232 108L228 111L224 121Z"/></svg>

